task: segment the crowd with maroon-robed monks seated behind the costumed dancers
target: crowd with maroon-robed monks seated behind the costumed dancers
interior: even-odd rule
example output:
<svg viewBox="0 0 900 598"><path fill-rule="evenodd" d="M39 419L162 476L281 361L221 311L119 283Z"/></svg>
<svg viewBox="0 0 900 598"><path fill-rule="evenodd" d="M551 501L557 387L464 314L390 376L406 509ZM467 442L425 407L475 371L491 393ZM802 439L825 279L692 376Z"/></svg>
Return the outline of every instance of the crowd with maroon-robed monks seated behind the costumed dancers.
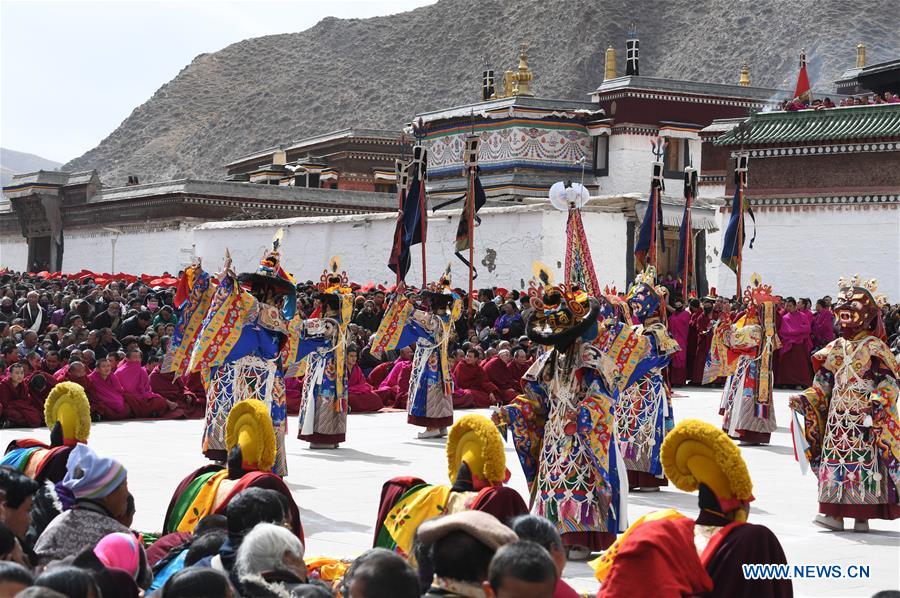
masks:
<svg viewBox="0 0 900 598"><path fill-rule="evenodd" d="M716 324L723 314L730 317L743 306L736 298L716 296L685 304L679 299L676 278L663 277L661 284L669 289L669 328L680 345L672 359L670 382L701 384ZM370 351L389 290L351 286L347 361L351 412L403 409L412 348L386 355ZM298 306L304 316L316 310L317 294L312 282L299 287ZM40 426L43 401L61 381L85 388L96 421L203 417L200 374L174 376L161 368L178 323L174 295L174 286L151 287L140 280L98 284L91 277L0 275L0 427ZM521 392L522 375L539 350L525 335L526 293L482 289L473 305L473 317L457 321L450 345L454 406L460 409L508 403ZM783 346L775 360L776 384L794 387L811 380L811 353L835 335L830 307L829 297L815 305L807 298L784 299L778 317ZM885 307L883 316L894 341L900 307ZM286 380L290 413L299 411L301 386L302 379Z"/></svg>

